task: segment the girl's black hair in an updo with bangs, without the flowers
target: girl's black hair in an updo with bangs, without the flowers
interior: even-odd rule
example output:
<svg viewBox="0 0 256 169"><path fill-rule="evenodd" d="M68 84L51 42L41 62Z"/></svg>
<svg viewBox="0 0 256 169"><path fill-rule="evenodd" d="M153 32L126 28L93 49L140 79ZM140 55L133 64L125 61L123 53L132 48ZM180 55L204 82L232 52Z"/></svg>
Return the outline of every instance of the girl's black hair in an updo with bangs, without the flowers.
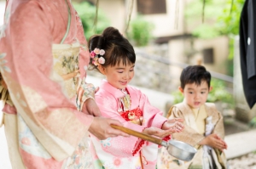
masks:
<svg viewBox="0 0 256 169"><path fill-rule="evenodd" d="M101 35L90 37L88 44L90 52L95 48L105 50L105 54L102 56L105 59L103 67L119 65L120 63L131 65L136 61L131 43L113 27L106 28ZM96 65L92 64L92 61L93 59L90 58L90 68L96 69Z"/></svg>

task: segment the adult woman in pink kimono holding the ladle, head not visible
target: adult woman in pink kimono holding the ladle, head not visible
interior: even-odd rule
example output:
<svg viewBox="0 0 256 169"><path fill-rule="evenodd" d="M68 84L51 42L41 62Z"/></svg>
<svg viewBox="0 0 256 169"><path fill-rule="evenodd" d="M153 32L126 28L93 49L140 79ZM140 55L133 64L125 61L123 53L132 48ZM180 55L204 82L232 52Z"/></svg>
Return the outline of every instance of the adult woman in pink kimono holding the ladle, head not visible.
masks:
<svg viewBox="0 0 256 169"><path fill-rule="evenodd" d="M81 21L69 0L8 1L0 89L14 169L92 168L88 131L100 139L127 136L110 127L121 125L119 121L95 117L101 113L94 87L83 79L89 62L85 46Z"/></svg>

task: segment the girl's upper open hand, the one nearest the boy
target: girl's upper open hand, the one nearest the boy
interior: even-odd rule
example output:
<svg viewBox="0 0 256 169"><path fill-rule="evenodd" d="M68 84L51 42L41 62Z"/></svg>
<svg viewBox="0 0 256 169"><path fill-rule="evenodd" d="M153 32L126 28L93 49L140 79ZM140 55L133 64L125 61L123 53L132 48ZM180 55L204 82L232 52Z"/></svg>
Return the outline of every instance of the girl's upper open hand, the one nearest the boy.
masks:
<svg viewBox="0 0 256 169"><path fill-rule="evenodd" d="M182 132L183 131L183 122L184 120L181 118L173 118L173 119L169 119L168 121L166 121L163 126L162 129L163 130L169 130L170 132L172 131L172 133L174 132Z"/></svg>

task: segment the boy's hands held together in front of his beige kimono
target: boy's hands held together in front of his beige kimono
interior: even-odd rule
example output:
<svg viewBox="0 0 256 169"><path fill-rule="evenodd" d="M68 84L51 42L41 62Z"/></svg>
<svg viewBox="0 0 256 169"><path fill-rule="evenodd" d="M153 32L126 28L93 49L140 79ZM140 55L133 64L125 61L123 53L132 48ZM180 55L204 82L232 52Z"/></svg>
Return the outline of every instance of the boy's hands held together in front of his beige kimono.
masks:
<svg viewBox="0 0 256 169"><path fill-rule="evenodd" d="M228 148L224 140L222 138L219 138L216 133L208 135L200 142L200 144L208 145L212 148L219 149L221 151Z"/></svg>

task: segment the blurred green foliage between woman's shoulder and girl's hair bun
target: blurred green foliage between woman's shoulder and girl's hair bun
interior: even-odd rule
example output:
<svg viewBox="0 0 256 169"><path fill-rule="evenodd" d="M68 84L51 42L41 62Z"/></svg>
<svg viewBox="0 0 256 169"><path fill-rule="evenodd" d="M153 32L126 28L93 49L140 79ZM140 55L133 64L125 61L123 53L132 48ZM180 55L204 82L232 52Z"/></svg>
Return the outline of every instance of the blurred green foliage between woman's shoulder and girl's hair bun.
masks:
<svg viewBox="0 0 256 169"><path fill-rule="evenodd" d="M100 9L98 9L98 14L96 18L96 6L92 3L73 2L73 7L77 10L81 18L84 27L84 35L87 39L89 39L94 34L102 33L102 31L110 25L110 21L106 17L106 14L103 14ZM94 30L95 20L97 20L96 31Z"/></svg>

